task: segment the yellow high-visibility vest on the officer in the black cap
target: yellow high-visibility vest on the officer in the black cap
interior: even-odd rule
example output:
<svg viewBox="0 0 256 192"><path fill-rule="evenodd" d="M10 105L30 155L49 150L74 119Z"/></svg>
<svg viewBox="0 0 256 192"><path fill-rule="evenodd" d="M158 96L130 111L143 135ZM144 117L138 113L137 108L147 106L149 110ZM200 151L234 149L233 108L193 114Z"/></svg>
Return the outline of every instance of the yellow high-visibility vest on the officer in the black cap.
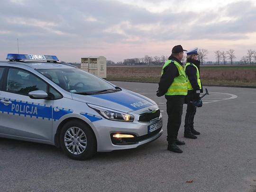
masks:
<svg viewBox="0 0 256 192"><path fill-rule="evenodd" d="M174 78L174 82L170 85L165 95L187 95L188 84L187 84L186 74L183 67L177 61L167 60L165 62L165 65L163 66L161 76L164 74L164 68L168 66L170 63L175 64L175 66L178 68L180 75Z"/></svg>

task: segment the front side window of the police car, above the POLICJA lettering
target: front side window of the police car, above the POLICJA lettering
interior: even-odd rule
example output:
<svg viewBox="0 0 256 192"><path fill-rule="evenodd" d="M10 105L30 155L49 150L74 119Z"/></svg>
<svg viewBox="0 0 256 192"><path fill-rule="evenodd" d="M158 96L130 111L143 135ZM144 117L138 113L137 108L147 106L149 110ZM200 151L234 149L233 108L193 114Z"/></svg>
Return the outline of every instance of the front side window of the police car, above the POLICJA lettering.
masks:
<svg viewBox="0 0 256 192"><path fill-rule="evenodd" d="M36 75L22 69L9 68L6 91L27 95L29 92L42 90L47 92L47 84Z"/></svg>

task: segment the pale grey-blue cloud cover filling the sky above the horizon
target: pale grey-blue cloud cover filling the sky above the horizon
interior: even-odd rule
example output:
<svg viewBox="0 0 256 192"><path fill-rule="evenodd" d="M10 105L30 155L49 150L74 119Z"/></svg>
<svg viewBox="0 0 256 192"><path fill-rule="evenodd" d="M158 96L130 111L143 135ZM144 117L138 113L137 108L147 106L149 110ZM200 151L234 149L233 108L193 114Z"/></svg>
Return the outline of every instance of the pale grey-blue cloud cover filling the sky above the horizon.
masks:
<svg viewBox="0 0 256 192"><path fill-rule="evenodd" d="M29 49L104 50L120 43L143 48L149 42L247 40L256 33L253 1L185 12L188 0L171 2L154 13L117 0L1 0L0 49L11 49L17 38Z"/></svg>

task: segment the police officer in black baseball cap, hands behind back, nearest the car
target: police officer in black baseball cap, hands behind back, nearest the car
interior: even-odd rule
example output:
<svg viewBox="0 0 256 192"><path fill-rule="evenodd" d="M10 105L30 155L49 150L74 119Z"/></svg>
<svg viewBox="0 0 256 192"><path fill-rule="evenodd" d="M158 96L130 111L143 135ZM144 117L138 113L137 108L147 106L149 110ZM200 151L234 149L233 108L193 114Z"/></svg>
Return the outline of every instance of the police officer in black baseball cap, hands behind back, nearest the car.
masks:
<svg viewBox="0 0 256 192"><path fill-rule="evenodd" d="M186 75L181 63L183 51L187 50L183 50L181 45L174 46L172 55L162 69L156 93L158 97L165 95L167 100L167 150L176 153L183 152L177 145L185 144L177 138L182 121L183 103L188 92Z"/></svg>

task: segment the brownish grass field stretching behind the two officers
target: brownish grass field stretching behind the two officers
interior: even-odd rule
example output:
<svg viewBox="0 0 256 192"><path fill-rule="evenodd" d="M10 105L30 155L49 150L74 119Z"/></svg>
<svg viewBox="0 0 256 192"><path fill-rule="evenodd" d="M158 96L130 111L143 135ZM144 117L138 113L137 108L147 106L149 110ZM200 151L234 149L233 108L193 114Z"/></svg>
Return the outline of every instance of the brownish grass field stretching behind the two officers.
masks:
<svg viewBox="0 0 256 192"><path fill-rule="evenodd" d="M107 69L107 79L158 83L161 67L115 67ZM203 84L256 86L256 65L201 67Z"/></svg>

